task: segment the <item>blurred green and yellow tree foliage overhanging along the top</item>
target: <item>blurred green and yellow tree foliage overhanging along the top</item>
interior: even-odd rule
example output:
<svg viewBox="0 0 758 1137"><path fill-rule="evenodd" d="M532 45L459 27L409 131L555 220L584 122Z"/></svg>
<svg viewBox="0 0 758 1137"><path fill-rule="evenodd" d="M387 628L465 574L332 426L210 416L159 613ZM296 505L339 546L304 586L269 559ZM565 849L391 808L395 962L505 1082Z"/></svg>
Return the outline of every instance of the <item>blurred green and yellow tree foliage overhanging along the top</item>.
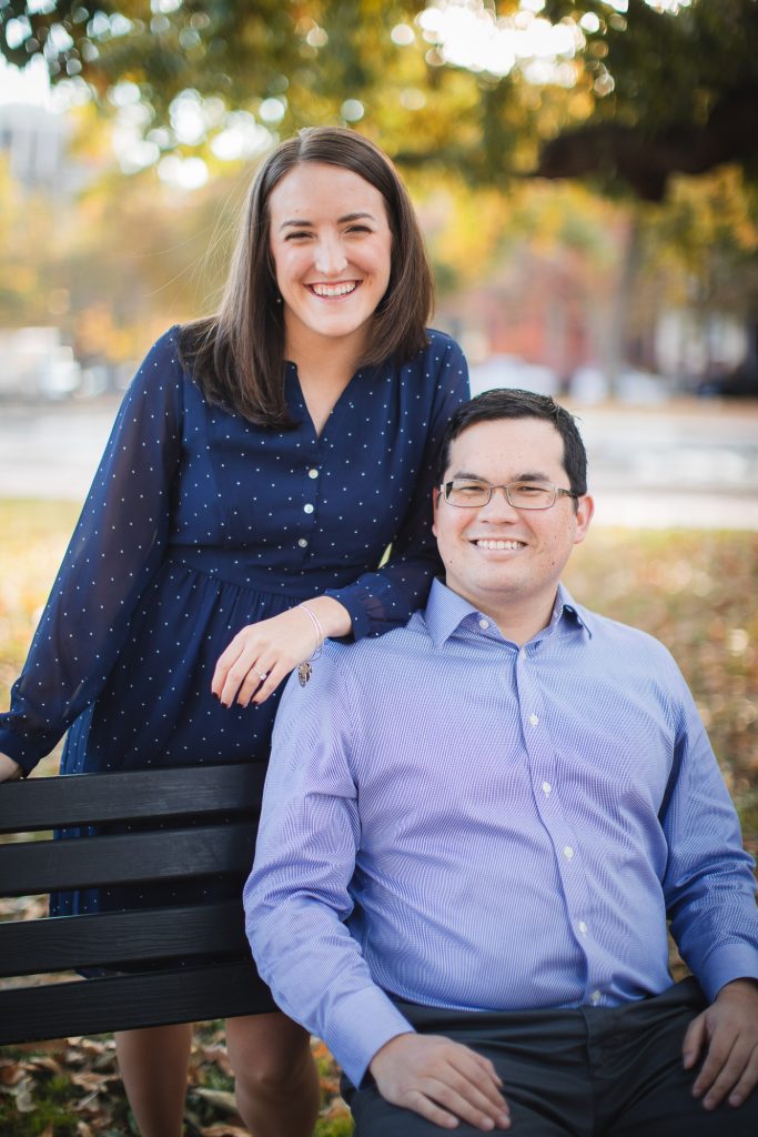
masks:
<svg viewBox="0 0 758 1137"><path fill-rule="evenodd" d="M505 74L451 65L418 23L426 7L435 5L106 0L92 13L81 0L5 0L0 50L18 66L42 56L53 82L86 83L103 107L119 83L135 84L161 151L184 149L172 102L191 91L207 113L205 141L235 109L283 133L359 122L406 168L456 171L478 185L535 169L594 173L655 200L676 171L732 160L755 175L755 0L692 0L676 11L630 0L625 15L601 0L548 0L540 18L566 25L577 44L560 81L527 74L528 59ZM491 31L498 19L534 19L517 0L468 7Z"/></svg>

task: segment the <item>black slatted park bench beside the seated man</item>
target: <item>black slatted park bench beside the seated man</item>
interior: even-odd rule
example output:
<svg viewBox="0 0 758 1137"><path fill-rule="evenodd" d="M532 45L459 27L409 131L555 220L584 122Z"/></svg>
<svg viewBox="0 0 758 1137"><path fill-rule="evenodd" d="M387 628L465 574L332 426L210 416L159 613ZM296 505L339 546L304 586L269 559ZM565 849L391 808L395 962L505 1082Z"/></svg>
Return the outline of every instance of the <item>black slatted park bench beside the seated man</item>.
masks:
<svg viewBox="0 0 758 1137"><path fill-rule="evenodd" d="M0 833L23 839L0 844L0 896L217 873L241 896L264 775L260 765L209 765L6 782ZM47 832L130 822L139 831L56 841ZM111 973L56 976L82 968ZM255 1014L268 1010L255 977L240 899L0 920L0 1045Z"/></svg>

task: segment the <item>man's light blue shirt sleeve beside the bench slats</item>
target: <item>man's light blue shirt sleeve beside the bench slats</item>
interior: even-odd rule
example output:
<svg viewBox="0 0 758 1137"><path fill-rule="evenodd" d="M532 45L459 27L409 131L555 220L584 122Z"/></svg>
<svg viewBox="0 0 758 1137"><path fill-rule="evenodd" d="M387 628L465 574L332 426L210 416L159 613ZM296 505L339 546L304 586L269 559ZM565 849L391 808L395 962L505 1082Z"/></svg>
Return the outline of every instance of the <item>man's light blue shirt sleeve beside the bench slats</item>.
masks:
<svg viewBox="0 0 758 1137"><path fill-rule="evenodd" d="M327 646L307 688L293 675L276 720L244 888L258 970L281 1009L323 1038L353 1085L374 1054L413 1031L374 982L344 921L360 844L350 716Z"/></svg>

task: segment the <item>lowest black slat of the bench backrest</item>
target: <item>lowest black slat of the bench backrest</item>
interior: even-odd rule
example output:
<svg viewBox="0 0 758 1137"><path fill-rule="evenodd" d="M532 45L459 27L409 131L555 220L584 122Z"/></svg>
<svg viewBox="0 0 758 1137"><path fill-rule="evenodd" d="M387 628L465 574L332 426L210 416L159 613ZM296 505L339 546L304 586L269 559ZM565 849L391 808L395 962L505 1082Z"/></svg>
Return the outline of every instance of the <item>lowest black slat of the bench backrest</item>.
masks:
<svg viewBox="0 0 758 1137"><path fill-rule="evenodd" d="M0 1045L270 1011L255 977L250 961L0 990Z"/></svg>

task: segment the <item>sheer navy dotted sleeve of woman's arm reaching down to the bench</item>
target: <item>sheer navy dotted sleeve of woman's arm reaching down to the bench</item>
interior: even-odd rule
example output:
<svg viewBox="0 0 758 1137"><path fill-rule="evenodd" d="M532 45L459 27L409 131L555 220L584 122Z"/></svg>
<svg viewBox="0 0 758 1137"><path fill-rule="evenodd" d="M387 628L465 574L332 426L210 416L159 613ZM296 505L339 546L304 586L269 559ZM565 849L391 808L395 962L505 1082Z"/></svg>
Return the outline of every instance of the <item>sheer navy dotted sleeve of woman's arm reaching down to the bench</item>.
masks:
<svg viewBox="0 0 758 1137"><path fill-rule="evenodd" d="M166 546L181 457L182 368L164 335L126 392L34 634L0 715L0 752L25 773L97 698Z"/></svg>

